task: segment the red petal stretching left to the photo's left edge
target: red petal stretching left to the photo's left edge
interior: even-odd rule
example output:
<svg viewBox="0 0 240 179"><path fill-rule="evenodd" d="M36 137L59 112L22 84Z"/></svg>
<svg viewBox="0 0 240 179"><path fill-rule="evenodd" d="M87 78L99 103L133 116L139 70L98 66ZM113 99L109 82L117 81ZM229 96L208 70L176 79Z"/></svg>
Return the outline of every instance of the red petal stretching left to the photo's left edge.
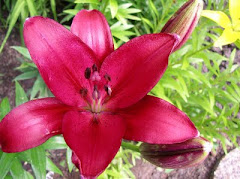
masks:
<svg viewBox="0 0 240 179"><path fill-rule="evenodd" d="M4 152L21 152L60 134L68 106L56 98L32 100L13 109L0 122L0 146Z"/></svg>

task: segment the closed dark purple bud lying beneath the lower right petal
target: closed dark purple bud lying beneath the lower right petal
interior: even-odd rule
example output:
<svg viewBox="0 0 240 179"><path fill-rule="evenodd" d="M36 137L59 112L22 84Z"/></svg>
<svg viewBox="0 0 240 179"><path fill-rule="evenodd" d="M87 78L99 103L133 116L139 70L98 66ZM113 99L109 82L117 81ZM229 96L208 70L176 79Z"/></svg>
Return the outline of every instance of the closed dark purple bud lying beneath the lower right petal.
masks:
<svg viewBox="0 0 240 179"><path fill-rule="evenodd" d="M140 146L140 152L147 161L162 168L185 168L203 162L212 149L212 144L203 137L197 137L176 144L147 144Z"/></svg>

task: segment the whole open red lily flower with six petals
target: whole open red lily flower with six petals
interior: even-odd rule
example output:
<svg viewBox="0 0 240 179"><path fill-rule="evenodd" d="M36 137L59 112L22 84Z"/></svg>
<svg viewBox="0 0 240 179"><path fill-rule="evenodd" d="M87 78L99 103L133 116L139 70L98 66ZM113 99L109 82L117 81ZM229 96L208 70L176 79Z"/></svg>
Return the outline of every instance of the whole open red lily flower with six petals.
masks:
<svg viewBox="0 0 240 179"><path fill-rule="evenodd" d="M114 51L105 17L82 10L71 32L51 19L29 18L24 40L55 98L29 101L5 116L4 152L63 134L81 176L94 178L114 158L122 138L172 144L198 136L182 111L147 95L167 68L174 35L143 35Z"/></svg>

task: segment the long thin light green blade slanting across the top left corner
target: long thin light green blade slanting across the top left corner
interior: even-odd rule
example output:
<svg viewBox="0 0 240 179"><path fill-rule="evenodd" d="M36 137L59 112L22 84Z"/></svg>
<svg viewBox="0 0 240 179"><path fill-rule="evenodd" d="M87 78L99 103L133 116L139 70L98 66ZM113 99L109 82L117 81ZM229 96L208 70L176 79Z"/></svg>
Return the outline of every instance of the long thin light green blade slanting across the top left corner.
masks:
<svg viewBox="0 0 240 179"><path fill-rule="evenodd" d="M9 23L9 26L8 26L7 34L4 37L3 42L1 44L1 47L0 47L0 53L2 52L3 47L4 47L5 43L7 42L7 39L9 37L14 25L16 24L17 19L20 16L21 10L24 6L25 6L25 1L24 0L18 0L17 3L15 4L14 9L11 13L11 18L10 18L11 20L10 20L10 23Z"/></svg>

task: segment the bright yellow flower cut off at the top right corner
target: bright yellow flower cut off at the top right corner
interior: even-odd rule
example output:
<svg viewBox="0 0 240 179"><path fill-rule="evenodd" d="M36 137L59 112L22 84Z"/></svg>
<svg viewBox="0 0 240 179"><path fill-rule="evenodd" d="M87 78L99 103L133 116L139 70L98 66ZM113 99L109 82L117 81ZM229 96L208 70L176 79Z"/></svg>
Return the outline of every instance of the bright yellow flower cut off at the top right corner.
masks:
<svg viewBox="0 0 240 179"><path fill-rule="evenodd" d="M222 47L240 39L240 0L229 0L229 11L231 19L221 11L204 10L202 12L202 16L224 28L222 35L214 42L215 47Z"/></svg>

